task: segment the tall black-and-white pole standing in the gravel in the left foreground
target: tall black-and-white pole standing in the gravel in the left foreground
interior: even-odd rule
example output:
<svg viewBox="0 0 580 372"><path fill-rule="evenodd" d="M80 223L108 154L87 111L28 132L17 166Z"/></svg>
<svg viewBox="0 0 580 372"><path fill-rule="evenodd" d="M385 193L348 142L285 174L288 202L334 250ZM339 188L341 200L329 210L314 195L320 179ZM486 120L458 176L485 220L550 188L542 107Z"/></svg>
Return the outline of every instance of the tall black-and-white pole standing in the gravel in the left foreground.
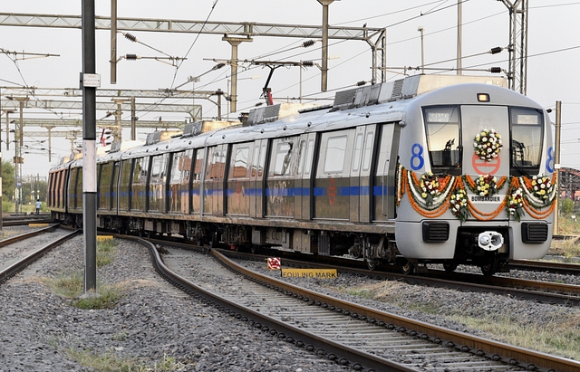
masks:
<svg viewBox="0 0 580 372"><path fill-rule="evenodd" d="M82 1L82 217L84 297L97 293L97 157L96 97L101 78L96 74L94 0Z"/></svg>

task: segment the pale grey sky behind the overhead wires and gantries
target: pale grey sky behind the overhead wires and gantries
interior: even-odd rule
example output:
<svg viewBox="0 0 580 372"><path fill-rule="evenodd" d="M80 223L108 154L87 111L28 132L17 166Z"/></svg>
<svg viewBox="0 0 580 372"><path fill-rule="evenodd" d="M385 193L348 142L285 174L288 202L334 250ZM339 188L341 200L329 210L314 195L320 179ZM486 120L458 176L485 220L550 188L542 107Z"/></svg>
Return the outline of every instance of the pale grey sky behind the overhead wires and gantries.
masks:
<svg viewBox="0 0 580 372"><path fill-rule="evenodd" d="M462 3L463 68L487 70L501 67L508 70L507 51L487 53L494 47L509 43L509 13L506 3L514 0L464 0ZM110 16L109 1L95 1L96 15ZM317 0L117 0L118 17L138 19L173 19L212 22L256 22L267 24L322 24L323 6ZM528 8L527 96L546 109L554 109L562 101L562 167L580 169L580 1L534 0ZM423 58L430 68L426 73L443 73L456 67L457 57L457 0L336 0L329 6L329 24L333 26L386 28L387 81L401 79L402 67L411 66L409 75L420 73L421 39L423 28ZM67 14L80 15L82 1L76 0L0 0L0 14ZM133 53L149 57L139 61L121 60L117 67L117 83L110 81L110 32L96 31L97 73L101 74L102 89L159 90L180 86L182 90L228 91L230 70L227 67L211 71L215 60L230 58L229 43L221 35L195 33L131 32L140 43L131 43L118 36L119 56ZM301 48L307 39L256 36L251 43L238 47L239 60L314 61L321 64L320 43ZM58 54L47 58L14 61L14 54L0 53L0 86L34 86L45 88L78 88L82 72L82 32L80 29L0 26L0 48L10 52ZM186 58L179 66L155 61L150 57L174 56ZM302 87L303 101L319 100L330 103L335 91L351 89L358 81L372 79L372 52L361 41L329 41L328 91L321 92L321 72L316 67L282 67L275 69L269 88L275 102L297 101ZM249 63L240 64L237 84L237 119L239 112L264 102L262 88L269 69ZM446 72L455 74L456 72ZM464 72L464 74L488 74ZM198 82L189 77L201 75ZM31 97L35 100L34 97ZM62 98L40 97L41 100ZM2 103L5 102L2 98ZM106 98L98 98L108 101ZM138 100L138 103L140 101ZM141 103L149 103L141 101ZM168 100L164 103L191 104L189 101ZM217 105L208 100L195 100L203 106L204 119L216 118ZM97 112L102 119L105 112ZM179 121L189 118L186 113L138 112L140 119ZM227 102L222 101L222 116L227 117ZM550 114L556 121L555 112ZM123 119L129 119L123 112ZM24 119L82 119L81 112L25 109ZM5 114L2 117L5 126ZM10 119L17 119L12 114ZM112 120L112 118L111 118ZM111 121L112 124L112 121ZM79 128L80 129L80 128ZM28 128L24 131L45 129ZM66 130L66 128L54 129ZM138 129L138 139L144 139L151 129ZM123 130L123 138L130 132ZM5 141L5 132L3 140ZM10 138L12 140L14 138ZM25 137L24 175L46 176L58 158L70 154L71 142L63 138L52 140L52 162L48 161L46 137ZM82 138L78 139L82 143ZM4 157L14 156L14 146Z"/></svg>

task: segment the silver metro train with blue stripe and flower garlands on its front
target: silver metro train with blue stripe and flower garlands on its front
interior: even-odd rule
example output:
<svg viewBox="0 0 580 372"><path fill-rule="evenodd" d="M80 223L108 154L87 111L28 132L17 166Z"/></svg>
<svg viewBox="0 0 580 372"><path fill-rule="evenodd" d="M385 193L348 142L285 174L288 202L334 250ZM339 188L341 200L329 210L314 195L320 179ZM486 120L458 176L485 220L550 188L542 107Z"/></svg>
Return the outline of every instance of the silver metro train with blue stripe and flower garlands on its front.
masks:
<svg viewBox="0 0 580 372"><path fill-rule="evenodd" d="M546 254L556 179L546 111L506 85L416 75L113 144L97 157L98 227L405 273L507 271ZM82 226L82 159L50 170L48 204Z"/></svg>

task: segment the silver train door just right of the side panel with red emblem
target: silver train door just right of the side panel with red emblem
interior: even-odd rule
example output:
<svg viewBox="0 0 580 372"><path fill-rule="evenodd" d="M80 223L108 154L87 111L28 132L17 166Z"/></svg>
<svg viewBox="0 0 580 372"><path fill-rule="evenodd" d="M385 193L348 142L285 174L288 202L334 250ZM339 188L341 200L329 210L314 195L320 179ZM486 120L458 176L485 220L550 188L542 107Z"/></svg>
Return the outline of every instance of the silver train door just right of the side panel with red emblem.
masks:
<svg viewBox="0 0 580 372"><path fill-rule="evenodd" d="M372 150L376 125L358 127L354 135L353 161L350 176L350 219L353 223L370 223L372 220Z"/></svg>

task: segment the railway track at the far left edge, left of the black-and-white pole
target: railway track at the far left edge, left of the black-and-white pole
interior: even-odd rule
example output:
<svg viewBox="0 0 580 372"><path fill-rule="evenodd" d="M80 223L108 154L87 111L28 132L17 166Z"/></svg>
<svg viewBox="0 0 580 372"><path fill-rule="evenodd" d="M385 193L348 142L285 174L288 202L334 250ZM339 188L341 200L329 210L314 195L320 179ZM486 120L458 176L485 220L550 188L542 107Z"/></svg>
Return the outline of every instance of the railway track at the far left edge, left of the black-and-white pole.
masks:
<svg viewBox="0 0 580 372"><path fill-rule="evenodd" d="M9 257L4 257L2 262L0 262L0 282L11 278L15 273L20 272L26 266L38 260L44 253L53 249L53 247L78 234L78 231L74 231L73 233L60 235L56 239L53 239L52 242L45 243L40 247L38 247L38 242L31 242L35 236L54 230L57 226L58 224L53 224L34 232L16 235L0 241L0 253ZM8 248L12 248L12 251L6 253L5 250Z"/></svg>

